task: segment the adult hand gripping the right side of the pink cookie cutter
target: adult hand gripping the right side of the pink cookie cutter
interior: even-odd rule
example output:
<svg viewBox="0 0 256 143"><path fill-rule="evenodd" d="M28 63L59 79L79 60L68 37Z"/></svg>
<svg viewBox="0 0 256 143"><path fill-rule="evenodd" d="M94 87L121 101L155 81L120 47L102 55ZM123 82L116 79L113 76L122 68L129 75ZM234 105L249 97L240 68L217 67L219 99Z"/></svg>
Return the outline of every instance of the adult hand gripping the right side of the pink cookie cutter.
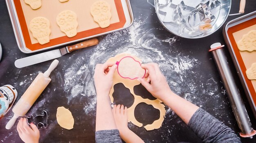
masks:
<svg viewBox="0 0 256 143"><path fill-rule="evenodd" d="M141 65L141 67L148 70L147 76L151 80L151 84L148 83L149 81L142 78L139 78L138 80L155 98L163 101L163 99L173 93L156 63L148 63L146 65Z"/></svg>

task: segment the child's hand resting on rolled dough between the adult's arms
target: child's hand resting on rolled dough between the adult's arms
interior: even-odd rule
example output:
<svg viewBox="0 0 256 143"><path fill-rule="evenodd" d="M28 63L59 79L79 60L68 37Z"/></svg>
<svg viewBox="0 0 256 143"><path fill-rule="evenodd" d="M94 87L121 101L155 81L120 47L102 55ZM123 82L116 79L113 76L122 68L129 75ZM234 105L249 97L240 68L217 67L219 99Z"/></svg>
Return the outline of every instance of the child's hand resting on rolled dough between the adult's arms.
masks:
<svg viewBox="0 0 256 143"><path fill-rule="evenodd" d="M124 105L114 105L112 113L114 115L115 123L120 134L122 134L124 130L129 129L127 107L124 107Z"/></svg>

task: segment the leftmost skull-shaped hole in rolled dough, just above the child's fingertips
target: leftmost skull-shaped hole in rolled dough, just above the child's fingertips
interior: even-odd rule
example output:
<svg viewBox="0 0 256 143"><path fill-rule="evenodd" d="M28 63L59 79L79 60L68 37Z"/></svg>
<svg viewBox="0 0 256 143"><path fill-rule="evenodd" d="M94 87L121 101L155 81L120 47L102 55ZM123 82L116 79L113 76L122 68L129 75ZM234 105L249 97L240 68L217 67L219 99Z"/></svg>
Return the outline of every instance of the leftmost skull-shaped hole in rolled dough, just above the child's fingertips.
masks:
<svg viewBox="0 0 256 143"><path fill-rule="evenodd" d="M114 104L118 105L124 105L127 108L132 106L134 103L134 96L132 93L130 93L130 90L124 86L123 83L117 83L114 85Z"/></svg>

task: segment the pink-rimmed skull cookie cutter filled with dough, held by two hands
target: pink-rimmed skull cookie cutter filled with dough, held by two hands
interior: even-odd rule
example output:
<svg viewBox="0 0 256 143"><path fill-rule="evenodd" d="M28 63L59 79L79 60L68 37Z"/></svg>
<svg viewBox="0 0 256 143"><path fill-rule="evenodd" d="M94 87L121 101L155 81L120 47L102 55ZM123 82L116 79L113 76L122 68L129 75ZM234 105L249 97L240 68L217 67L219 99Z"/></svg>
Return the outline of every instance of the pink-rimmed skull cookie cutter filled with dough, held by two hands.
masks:
<svg viewBox="0 0 256 143"><path fill-rule="evenodd" d="M137 78L144 78L146 69L141 68L141 63L136 61L131 56L125 56L120 61L116 62L117 72L122 78L134 80Z"/></svg>

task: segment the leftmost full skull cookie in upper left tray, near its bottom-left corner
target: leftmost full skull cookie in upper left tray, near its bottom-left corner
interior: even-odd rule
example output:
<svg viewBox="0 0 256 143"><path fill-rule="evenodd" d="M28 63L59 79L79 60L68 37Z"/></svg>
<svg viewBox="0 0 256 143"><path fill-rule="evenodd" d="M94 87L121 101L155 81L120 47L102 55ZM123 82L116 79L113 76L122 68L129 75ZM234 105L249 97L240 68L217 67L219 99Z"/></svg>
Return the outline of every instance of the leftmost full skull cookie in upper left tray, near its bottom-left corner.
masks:
<svg viewBox="0 0 256 143"><path fill-rule="evenodd" d="M36 17L31 20L29 30L32 32L33 37L43 45L50 41L50 21L45 17Z"/></svg>

